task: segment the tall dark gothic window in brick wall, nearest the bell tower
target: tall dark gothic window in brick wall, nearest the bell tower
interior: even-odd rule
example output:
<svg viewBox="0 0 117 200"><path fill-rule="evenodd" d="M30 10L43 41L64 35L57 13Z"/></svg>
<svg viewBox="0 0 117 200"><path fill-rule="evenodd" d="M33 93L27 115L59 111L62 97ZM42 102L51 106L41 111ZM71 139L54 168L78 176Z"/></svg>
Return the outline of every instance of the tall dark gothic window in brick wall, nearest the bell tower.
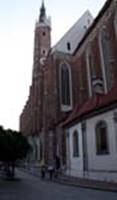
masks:
<svg viewBox="0 0 117 200"><path fill-rule="evenodd" d="M62 63L60 66L60 94L61 104L69 109L72 104L71 97L71 70L70 66L66 63ZM65 107L64 107L65 108Z"/></svg>

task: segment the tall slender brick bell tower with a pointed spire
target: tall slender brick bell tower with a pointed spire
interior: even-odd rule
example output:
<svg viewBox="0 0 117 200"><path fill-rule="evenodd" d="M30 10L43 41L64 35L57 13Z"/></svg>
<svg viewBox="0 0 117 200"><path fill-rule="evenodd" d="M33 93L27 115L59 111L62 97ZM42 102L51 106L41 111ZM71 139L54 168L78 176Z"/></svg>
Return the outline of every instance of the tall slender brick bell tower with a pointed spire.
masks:
<svg viewBox="0 0 117 200"><path fill-rule="evenodd" d="M32 84L30 92L32 133L39 135L42 127L44 71L43 65L51 48L51 23L46 16L44 1L34 30Z"/></svg>

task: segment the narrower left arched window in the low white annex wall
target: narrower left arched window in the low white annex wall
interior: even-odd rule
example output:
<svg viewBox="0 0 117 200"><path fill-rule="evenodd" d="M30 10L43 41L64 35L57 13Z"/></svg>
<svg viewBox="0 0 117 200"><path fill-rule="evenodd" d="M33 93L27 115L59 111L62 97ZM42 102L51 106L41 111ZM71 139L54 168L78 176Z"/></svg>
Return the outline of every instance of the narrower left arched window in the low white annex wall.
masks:
<svg viewBox="0 0 117 200"><path fill-rule="evenodd" d="M78 132L74 131L73 133L73 157L79 156L79 137Z"/></svg>

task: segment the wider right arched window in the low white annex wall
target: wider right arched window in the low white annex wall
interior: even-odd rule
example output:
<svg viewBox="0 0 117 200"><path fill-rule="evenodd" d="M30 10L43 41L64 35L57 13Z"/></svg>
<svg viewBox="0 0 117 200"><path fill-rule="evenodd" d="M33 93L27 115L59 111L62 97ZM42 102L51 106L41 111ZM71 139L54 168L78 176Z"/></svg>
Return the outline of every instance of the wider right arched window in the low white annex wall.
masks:
<svg viewBox="0 0 117 200"><path fill-rule="evenodd" d="M96 154L105 155L109 153L108 148L108 132L105 121L100 121L96 125Z"/></svg>

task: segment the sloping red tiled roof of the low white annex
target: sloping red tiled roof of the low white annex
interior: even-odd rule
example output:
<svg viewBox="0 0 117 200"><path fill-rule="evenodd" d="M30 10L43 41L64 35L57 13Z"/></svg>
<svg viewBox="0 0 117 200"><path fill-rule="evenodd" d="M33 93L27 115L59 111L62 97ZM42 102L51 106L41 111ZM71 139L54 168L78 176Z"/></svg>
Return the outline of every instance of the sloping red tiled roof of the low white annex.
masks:
<svg viewBox="0 0 117 200"><path fill-rule="evenodd" d="M94 97L90 97L82 107L76 105L73 112L69 115L67 120L62 124L66 126L72 123L76 119L80 119L80 117L89 114L97 109L102 109L110 104L117 102L117 84L113 86L113 88L105 95L96 95Z"/></svg>

